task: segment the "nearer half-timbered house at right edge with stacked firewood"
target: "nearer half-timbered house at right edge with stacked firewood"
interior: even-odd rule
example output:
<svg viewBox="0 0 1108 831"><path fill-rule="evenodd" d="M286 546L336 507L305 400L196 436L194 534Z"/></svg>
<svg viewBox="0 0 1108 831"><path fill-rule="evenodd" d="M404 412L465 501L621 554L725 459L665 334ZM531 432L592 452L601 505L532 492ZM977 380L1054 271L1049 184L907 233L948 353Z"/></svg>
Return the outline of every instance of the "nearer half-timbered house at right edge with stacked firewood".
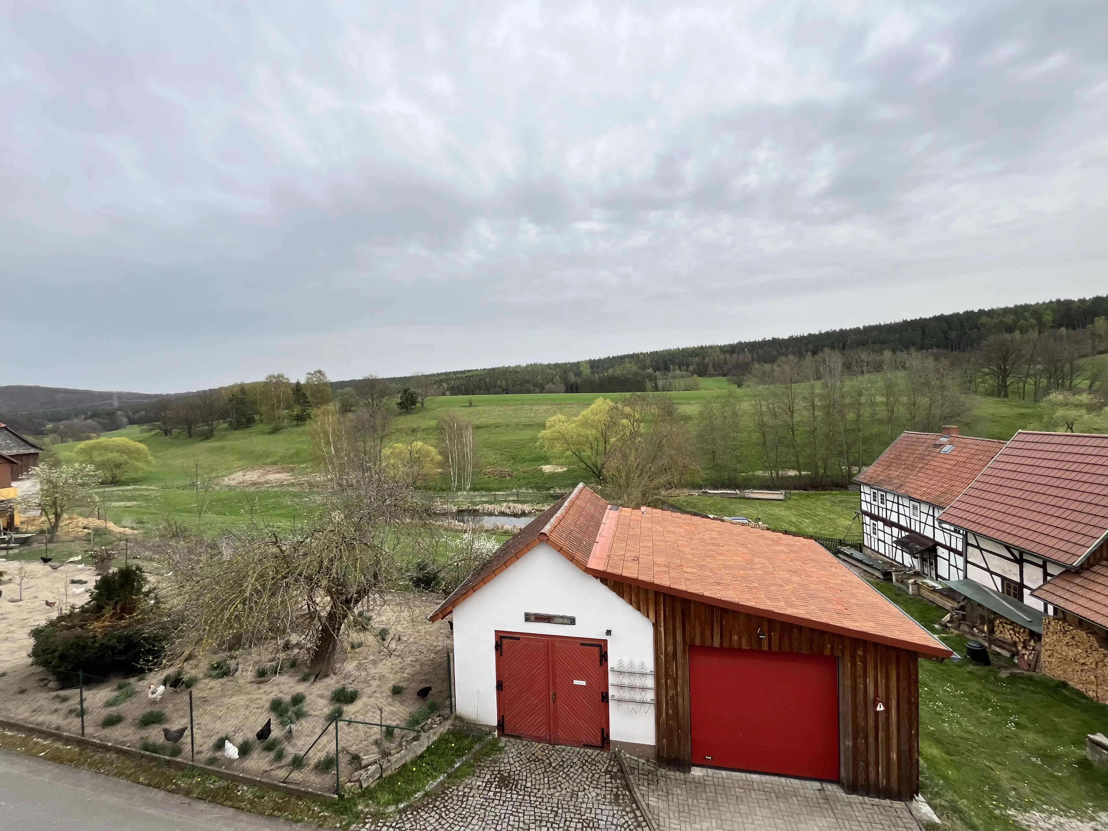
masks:
<svg viewBox="0 0 1108 831"><path fill-rule="evenodd" d="M1108 435L1019 431L940 522L965 535L967 579L1012 598L993 604L1008 637L1042 615L1043 670L1108 700Z"/></svg>

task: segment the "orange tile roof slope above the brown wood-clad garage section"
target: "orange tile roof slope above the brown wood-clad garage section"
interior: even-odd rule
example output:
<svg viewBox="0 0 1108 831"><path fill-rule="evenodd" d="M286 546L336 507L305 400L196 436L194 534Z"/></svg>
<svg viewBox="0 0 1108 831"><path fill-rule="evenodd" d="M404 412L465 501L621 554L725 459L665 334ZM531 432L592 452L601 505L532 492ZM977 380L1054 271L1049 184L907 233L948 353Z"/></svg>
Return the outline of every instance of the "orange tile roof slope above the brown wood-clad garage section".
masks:
<svg viewBox="0 0 1108 831"><path fill-rule="evenodd" d="M605 512L588 573L927 655L952 654L804 537L624 507Z"/></svg>

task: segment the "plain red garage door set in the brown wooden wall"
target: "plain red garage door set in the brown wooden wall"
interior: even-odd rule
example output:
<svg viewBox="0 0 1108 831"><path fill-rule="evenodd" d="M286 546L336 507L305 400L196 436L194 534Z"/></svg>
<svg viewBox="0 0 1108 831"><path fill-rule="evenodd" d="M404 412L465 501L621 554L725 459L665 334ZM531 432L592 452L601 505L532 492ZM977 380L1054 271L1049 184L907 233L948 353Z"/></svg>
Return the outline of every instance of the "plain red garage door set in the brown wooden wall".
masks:
<svg viewBox="0 0 1108 831"><path fill-rule="evenodd" d="M689 647L693 763L839 779L838 663Z"/></svg>

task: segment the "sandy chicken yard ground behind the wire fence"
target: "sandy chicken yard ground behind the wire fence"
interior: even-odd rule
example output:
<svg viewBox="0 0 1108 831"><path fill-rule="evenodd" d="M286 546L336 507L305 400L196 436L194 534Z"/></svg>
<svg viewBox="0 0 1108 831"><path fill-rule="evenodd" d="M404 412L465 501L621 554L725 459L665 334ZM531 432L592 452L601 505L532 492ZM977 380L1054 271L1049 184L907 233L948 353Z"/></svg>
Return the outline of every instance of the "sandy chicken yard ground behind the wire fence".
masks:
<svg viewBox="0 0 1108 831"><path fill-rule="evenodd" d="M51 676L44 670L30 666L24 657L30 645L25 633L30 626L42 623L53 614L43 614L42 596L59 583L57 577L47 577L35 566L28 566L35 572L40 596L32 599L29 596L30 578L23 585L24 602L21 604L0 603L3 606L3 666L7 670L0 677L0 715L6 715L31 724L79 732L80 710L76 707L78 691L75 689L49 689ZM64 570L59 570L59 573ZM92 574L92 568L74 571L74 574ZM50 572L53 575L53 572ZM91 583L91 582L90 582ZM7 595L7 587L4 594ZM6 597L7 598L7 597ZM198 677L193 687L193 717L195 724L196 761L208 762L249 772L283 778L288 772L288 762L296 753L304 753L308 746L328 725L328 714L335 706L331 693L340 685L358 690L358 699L351 705L345 705L343 717L361 721L379 721L383 716L386 724L403 725L408 716L424 704L424 699L416 693L430 686L431 694L425 700L437 701L441 712L447 710L447 653L450 645L450 629L447 623L428 623L427 615L439 602L438 597L421 597L414 603L401 605L397 603L390 611L379 611L373 618L373 626L388 628L388 637L400 636L399 643L393 642L396 650L390 655L370 633L356 634L351 643L345 645L345 652L336 674L326 679L311 683L301 680L306 660L302 656L297 666L286 666L276 677L267 675L258 678L259 666L273 666L273 652L264 654L239 653L228 658L228 664L237 665L237 671L227 678L213 679L206 677L213 660L224 658L223 655L208 655L203 660L189 661L185 666L185 675ZM25 607L25 609L24 609ZM30 611L34 609L34 615ZM10 646L9 640L19 640L18 646ZM363 645L362 645L363 644ZM293 653L295 655L295 653ZM166 689L160 701L152 701L146 695L150 681L161 684L166 670L151 673L148 677L107 679L85 689L85 727L88 735L109 741L141 747L143 741L153 741L162 751L173 750L162 735L162 728L179 728L188 724L188 694ZM109 707L106 702L116 695L120 684L131 683L135 694L130 699ZM403 687L399 695L392 694L393 685ZM300 719L290 737L286 737L283 728L274 718L273 735L279 738L275 742L284 749L281 762L275 759L276 753L266 752L261 742L255 737L270 718L270 700L275 697L288 700L296 693L306 696L304 709L307 715ZM380 709L379 709L380 708ZM161 710L165 715L162 724L143 726L138 719L147 710ZM119 714L123 720L117 725L102 727L105 716ZM341 725L340 759L341 776L346 780L357 771L357 763L350 755L369 757L378 752L375 740L381 742L382 731L377 727ZM403 736L397 730L391 742L386 747L394 747ZM234 745L242 748L244 740L253 745L250 752L238 760L227 760L223 752L223 737L229 736ZM177 746L185 758L189 753L189 737L186 736ZM218 749L215 749L218 747ZM294 772L289 781L301 781L314 787L334 788L335 773L312 770L315 761L327 753L335 752L334 732L320 739L316 748L308 755L307 765Z"/></svg>

